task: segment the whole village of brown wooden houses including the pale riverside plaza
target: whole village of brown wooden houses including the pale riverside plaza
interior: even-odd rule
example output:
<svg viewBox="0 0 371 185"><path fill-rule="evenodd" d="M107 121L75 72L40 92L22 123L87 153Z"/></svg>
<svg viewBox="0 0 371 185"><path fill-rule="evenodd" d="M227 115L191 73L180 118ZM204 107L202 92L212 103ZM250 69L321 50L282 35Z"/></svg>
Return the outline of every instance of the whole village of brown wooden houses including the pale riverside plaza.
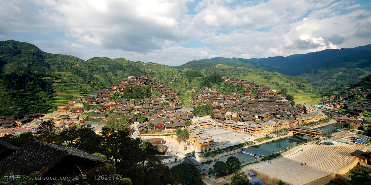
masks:
<svg viewBox="0 0 371 185"><path fill-rule="evenodd" d="M321 122L329 117L318 107L305 103L292 105L282 93L276 92L275 89L270 87L226 76L221 78L225 83L242 85L245 87L244 93L234 90L229 94L223 94L218 92L216 88L210 87L206 87L204 90L188 89L187 91L196 94L190 100L192 104L183 104L177 92L161 83L161 81L156 81L150 75L128 76L120 80L118 84L113 84L112 87L93 91L87 97L70 99L69 105L59 106L58 111L50 114L30 114L24 115L24 118L0 117L0 136L27 132L36 134L37 125L45 120L51 120L59 129L90 125L96 134L101 134L102 128L106 125L109 117L116 120L125 118L128 121L129 128L131 128L133 137L141 137L151 142L152 145L157 147L158 152L170 156L183 154L184 161L195 165L200 170L200 174L203 175L207 175L209 172L206 166L190 157L189 153L180 152L180 143L176 144L176 141L174 142L173 138L170 137L151 135L172 135L179 128L186 129L188 139L184 145L184 150L190 149L190 151L196 150L197 152L203 151L203 149L206 151L208 148L210 151L211 147L214 147L215 150L216 146L218 146L218 149L228 146L216 145L213 134L208 132L210 128L243 132L247 134L245 137L250 136L257 139L265 137L265 134L282 131L282 129L317 137L323 136L324 133L321 130L311 131L310 128L301 127L301 125ZM147 87L151 91L151 97L141 100L112 100L114 95L123 94L134 87ZM257 92L256 96L251 95L252 90ZM153 95L153 92L156 92L156 95ZM96 108L84 110L84 104ZM338 104L348 108L349 111L368 112L370 110L364 107L369 105L369 102L359 102L353 105L346 102L333 102L331 106L338 108L336 106ZM324 102L325 105L326 102ZM207 112L209 115L198 115L198 108L202 108L202 106L212 107ZM357 116L361 115L358 114ZM361 129L362 126L371 125L370 122L358 120L355 117L339 115L332 119L349 122L356 128Z"/></svg>

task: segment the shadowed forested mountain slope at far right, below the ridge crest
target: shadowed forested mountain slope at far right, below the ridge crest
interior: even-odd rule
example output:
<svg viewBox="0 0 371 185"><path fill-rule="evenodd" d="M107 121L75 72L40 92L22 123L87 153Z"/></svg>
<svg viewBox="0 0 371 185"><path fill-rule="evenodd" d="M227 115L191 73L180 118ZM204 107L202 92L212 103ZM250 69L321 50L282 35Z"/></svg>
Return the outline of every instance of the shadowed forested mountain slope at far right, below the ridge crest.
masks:
<svg viewBox="0 0 371 185"><path fill-rule="evenodd" d="M371 74L371 51L361 50L352 56L325 61L316 69L298 75L321 87L348 86Z"/></svg>

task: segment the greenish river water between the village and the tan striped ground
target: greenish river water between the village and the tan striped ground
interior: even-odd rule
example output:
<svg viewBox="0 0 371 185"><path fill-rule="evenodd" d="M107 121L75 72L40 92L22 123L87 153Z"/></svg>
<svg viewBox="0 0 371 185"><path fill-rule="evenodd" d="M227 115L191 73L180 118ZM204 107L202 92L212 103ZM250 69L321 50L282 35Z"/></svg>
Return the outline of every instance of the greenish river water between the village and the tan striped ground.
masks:
<svg viewBox="0 0 371 185"><path fill-rule="evenodd" d="M331 131L332 129L338 127L339 125L342 125L342 124L340 122L335 122L333 124L325 125L325 126L319 127L319 128L321 128L324 132L327 132L327 131ZM284 150L288 147L291 147L291 146L296 145L300 142L303 142L308 138L311 138L311 137L309 137L308 135L303 135L303 134L295 134L295 135L290 136L290 137L281 138L281 139L278 139L276 141L270 141L270 142L266 142L266 143L261 144L261 145L256 145L256 146L253 146L253 147L246 148L246 149L244 149L245 153L244 152L238 152L236 154L221 157L221 158L219 158L217 160L214 160L214 161L203 162L203 164L205 164L209 168L213 168L213 165L215 164L216 161L226 162L227 159L231 156L238 158L241 163L252 162L252 161L255 161L257 159L257 157L255 157L253 155L250 155L250 154L247 154L247 153L252 153L252 154L257 154L257 155L269 155L269 154L272 154L272 152L276 153L280 150Z"/></svg>

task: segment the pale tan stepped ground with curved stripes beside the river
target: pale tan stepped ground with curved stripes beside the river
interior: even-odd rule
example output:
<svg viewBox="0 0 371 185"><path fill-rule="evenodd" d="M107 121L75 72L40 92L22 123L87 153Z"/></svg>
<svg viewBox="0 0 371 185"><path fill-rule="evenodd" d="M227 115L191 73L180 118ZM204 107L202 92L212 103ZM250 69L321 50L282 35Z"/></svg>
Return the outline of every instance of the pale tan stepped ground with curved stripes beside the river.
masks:
<svg viewBox="0 0 371 185"><path fill-rule="evenodd" d="M326 175L337 172L352 162L358 160L350 157L350 152L356 149L364 150L358 146L303 146L298 151L286 157L266 161L253 165L249 169L269 175L293 185L302 185ZM306 165L301 165L301 163Z"/></svg>

